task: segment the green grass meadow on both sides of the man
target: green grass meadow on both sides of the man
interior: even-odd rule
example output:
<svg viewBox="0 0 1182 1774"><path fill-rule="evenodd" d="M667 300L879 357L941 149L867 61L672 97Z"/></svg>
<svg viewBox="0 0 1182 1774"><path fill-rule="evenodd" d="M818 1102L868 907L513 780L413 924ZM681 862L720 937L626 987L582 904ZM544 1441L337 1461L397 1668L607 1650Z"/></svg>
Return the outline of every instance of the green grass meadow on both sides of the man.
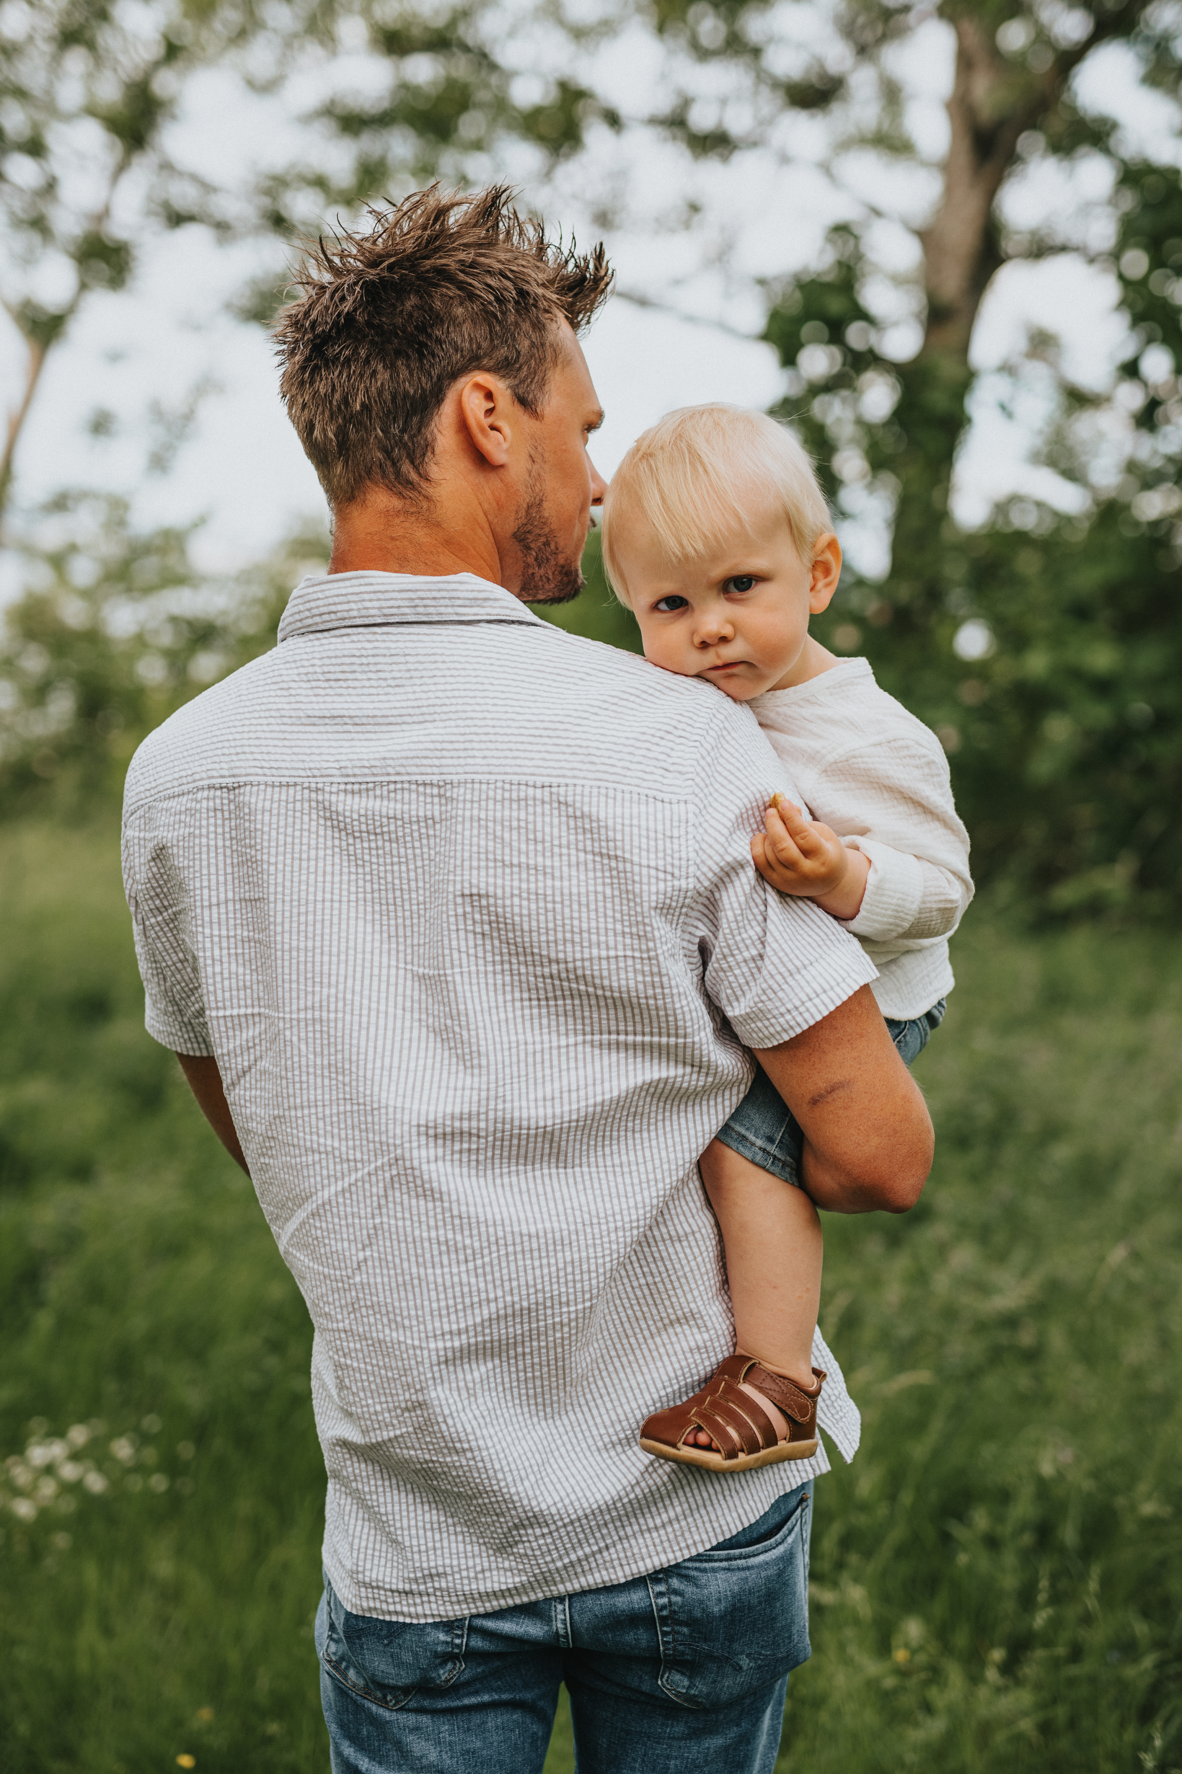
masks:
<svg viewBox="0 0 1182 1774"><path fill-rule="evenodd" d="M978 908L957 972L923 1203L826 1226L865 1440L780 1769L1178 1769L1182 940ZM0 1513L0 1763L321 1774L307 1315L140 1018L110 834L2 828L0 1456L101 1421L108 1488Z"/></svg>

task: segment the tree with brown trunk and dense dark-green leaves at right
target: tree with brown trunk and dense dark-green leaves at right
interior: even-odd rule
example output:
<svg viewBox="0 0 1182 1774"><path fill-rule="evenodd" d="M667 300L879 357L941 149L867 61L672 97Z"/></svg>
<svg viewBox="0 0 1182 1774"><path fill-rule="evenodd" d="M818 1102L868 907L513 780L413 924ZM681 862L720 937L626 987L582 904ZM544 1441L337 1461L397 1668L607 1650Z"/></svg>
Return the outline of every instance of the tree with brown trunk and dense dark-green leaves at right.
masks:
<svg viewBox="0 0 1182 1774"><path fill-rule="evenodd" d="M783 291L767 325L808 385L797 424L838 509L875 491L891 507L890 577L851 575L828 635L849 651L868 624L884 683L941 733L978 873L1005 873L1053 910L1136 894L1164 905L1182 891L1170 816L1182 788L1182 193L1175 169L1124 158L1113 122L1083 115L1069 82L1116 34L1147 78L1177 82L1182 18L1079 9L1060 16L1063 43L1049 39L1046 11L941 11L955 23L957 71L943 192L921 232L920 351L891 364L877 349L874 263L856 227L833 232L828 263ZM1085 154L1111 167L1108 239L1072 238L1070 218L1033 239L1007 229L1007 177ZM1017 498L966 534L948 514L948 486L973 321L1007 255L1063 247L1120 282L1129 335L1115 385L1072 385L1053 337L1031 339L1008 378L1017 387L1040 374L1053 415L1040 459L1074 483L1079 509Z"/></svg>

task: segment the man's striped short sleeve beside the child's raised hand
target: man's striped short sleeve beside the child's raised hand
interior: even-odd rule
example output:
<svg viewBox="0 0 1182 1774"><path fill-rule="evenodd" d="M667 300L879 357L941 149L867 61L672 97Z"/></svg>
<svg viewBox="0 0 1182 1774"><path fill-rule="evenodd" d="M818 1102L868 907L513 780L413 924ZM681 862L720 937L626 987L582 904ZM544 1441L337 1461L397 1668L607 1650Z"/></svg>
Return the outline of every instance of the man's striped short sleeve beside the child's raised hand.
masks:
<svg viewBox="0 0 1182 1774"><path fill-rule="evenodd" d="M700 781L691 930L705 992L741 1041L774 1047L877 972L835 919L812 899L776 892L751 862L771 795L799 795L748 710L719 711Z"/></svg>

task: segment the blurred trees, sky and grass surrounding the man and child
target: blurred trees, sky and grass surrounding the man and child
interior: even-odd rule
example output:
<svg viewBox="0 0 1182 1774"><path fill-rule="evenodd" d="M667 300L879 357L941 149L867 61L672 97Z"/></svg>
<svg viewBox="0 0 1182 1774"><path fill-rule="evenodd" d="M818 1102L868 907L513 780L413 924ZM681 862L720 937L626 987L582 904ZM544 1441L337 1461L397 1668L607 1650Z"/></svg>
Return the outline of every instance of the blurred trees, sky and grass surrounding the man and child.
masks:
<svg viewBox="0 0 1182 1774"><path fill-rule="evenodd" d="M932 1183L828 1228L867 1435L780 1767L1182 1769L1180 62L1177 0L0 0L12 1774L326 1767L307 1313L144 1034L119 795L326 559L292 241L431 179L606 241L601 468L797 429L817 632L973 836ZM634 648L587 575L555 619Z"/></svg>

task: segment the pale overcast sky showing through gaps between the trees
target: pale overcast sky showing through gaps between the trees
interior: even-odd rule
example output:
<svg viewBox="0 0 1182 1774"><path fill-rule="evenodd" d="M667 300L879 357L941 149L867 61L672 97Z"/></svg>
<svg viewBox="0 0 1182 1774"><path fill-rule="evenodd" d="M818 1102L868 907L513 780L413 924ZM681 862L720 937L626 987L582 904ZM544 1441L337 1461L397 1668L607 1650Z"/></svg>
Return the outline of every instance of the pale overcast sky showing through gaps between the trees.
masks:
<svg viewBox="0 0 1182 1774"><path fill-rule="evenodd" d="M1141 145L1177 158L1175 106L1166 99L1147 105L1124 51L1104 51L1095 60L1090 80L1097 90L1102 87L1106 105L1125 115L1125 128ZM921 145L936 154L946 128L943 99L950 76L950 34L936 25L911 44L907 64L909 122ZM636 57L627 78L643 78ZM186 94L172 153L218 183L241 183L252 169L299 153L298 115L314 98L312 89L289 92L285 99L259 98L230 75L202 75ZM817 158L820 149L817 142ZM842 204L845 213L856 208L851 199L835 199L819 165L808 163L808 140L794 144L796 170L785 176L782 158L771 151L695 169L661 144L604 138L581 161L567 165L548 190L549 220L574 227L583 239L588 199L597 186L618 188L626 181L636 197L626 225L610 238L624 294L585 341L608 412L595 447L604 472L670 406L709 399L769 406L783 394L774 353L751 337L764 316L758 279L806 264ZM523 170L528 190L530 169ZM1079 177L1086 184L1086 169ZM854 165L847 184L870 193L875 179L883 174ZM668 216L689 195L689 181L700 211L693 227L677 231ZM911 206L916 216L930 190L921 174L918 181L911 192L886 193L900 211ZM1035 167L1012 202L1026 204L1033 216L1065 202L1093 200L1102 209L1102 199L1100 188L1058 190ZM906 257L906 231L897 229L897 236L893 247L886 241L886 250ZM214 569L264 553L299 522L324 522L319 486L278 401L268 341L227 310L234 293L273 264L273 245L218 247L206 231L190 227L147 247L128 291L94 294L43 378L21 442L19 504L28 507L62 486L99 486L128 493L144 525L204 518L195 553ZM629 291L677 312L629 302ZM1001 365L1019 348L1026 326L1040 325L1063 337L1069 364L1081 380L1102 383L1124 339L1115 296L1111 275L1088 270L1072 255L1008 266L982 310L976 365ZM702 319L682 319L679 312ZM898 348L898 355L907 351L906 323ZM19 373L19 339L9 328L0 334L5 404ZM145 472L145 456L163 435L161 415L183 410L202 387L207 392L197 419L167 472ZM110 419L99 429L106 424L110 435L94 436L89 426L101 413ZM1003 417L987 381L978 415L960 468L962 516L984 520L992 498L1019 486L1069 502L1049 472L1031 481L1023 415ZM11 596L14 589L9 562L2 591Z"/></svg>

